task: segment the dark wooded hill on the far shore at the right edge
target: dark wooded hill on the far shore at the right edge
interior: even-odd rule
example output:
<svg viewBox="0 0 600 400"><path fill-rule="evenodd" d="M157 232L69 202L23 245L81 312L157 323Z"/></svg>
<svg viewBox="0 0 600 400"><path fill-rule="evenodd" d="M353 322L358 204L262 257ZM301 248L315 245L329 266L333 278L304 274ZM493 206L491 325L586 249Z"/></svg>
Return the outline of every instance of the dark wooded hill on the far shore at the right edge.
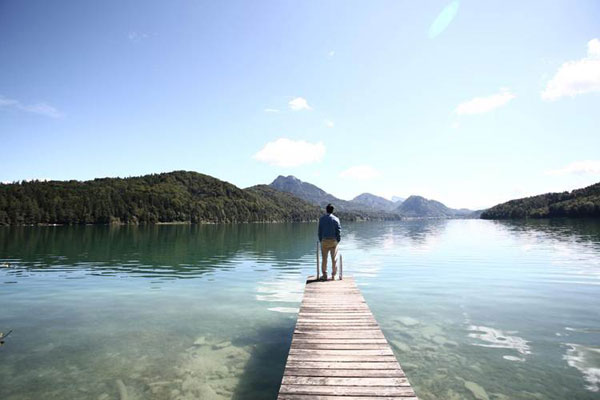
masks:
<svg viewBox="0 0 600 400"><path fill-rule="evenodd" d="M483 219L600 217L600 182L571 192L546 193L498 204Z"/></svg>

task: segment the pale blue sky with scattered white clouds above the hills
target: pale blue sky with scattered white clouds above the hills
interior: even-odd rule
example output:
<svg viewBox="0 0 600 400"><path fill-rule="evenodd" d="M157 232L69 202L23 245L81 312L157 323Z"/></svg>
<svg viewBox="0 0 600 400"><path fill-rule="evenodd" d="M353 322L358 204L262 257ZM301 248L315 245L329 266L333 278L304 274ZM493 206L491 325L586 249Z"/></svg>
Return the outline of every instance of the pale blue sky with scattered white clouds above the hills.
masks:
<svg viewBox="0 0 600 400"><path fill-rule="evenodd" d="M295 175L481 208L600 181L598 1L0 3L0 181Z"/></svg>

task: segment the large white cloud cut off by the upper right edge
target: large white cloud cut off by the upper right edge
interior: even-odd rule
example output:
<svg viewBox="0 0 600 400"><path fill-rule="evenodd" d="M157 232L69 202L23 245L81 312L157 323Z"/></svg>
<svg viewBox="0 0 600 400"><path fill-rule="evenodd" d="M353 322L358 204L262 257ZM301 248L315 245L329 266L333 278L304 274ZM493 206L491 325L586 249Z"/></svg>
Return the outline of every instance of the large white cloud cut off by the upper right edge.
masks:
<svg viewBox="0 0 600 400"><path fill-rule="evenodd" d="M560 66L556 74L542 92L542 99L557 100L564 96L600 92L600 40L588 42L587 57L576 61L567 61Z"/></svg>

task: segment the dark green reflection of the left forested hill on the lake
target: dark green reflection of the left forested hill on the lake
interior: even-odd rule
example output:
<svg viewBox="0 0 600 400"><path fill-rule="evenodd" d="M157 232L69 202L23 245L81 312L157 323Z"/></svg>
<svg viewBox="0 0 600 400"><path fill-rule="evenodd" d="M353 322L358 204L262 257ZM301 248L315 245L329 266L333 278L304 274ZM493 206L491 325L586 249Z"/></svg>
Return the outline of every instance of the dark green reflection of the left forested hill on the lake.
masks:
<svg viewBox="0 0 600 400"><path fill-rule="evenodd" d="M0 229L0 259L36 270L193 277L228 268L242 254L275 267L299 263L314 254L315 242L316 226L308 223L7 227Z"/></svg>

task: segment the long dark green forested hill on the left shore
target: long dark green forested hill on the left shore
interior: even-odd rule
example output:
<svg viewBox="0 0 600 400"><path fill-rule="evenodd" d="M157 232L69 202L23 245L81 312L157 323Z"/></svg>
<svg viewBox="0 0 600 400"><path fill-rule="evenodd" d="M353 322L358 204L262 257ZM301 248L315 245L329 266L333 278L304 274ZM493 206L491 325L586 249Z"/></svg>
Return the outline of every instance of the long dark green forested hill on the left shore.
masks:
<svg viewBox="0 0 600 400"><path fill-rule="evenodd" d="M0 184L0 225L308 221L320 213L268 187L243 190L187 171Z"/></svg>

